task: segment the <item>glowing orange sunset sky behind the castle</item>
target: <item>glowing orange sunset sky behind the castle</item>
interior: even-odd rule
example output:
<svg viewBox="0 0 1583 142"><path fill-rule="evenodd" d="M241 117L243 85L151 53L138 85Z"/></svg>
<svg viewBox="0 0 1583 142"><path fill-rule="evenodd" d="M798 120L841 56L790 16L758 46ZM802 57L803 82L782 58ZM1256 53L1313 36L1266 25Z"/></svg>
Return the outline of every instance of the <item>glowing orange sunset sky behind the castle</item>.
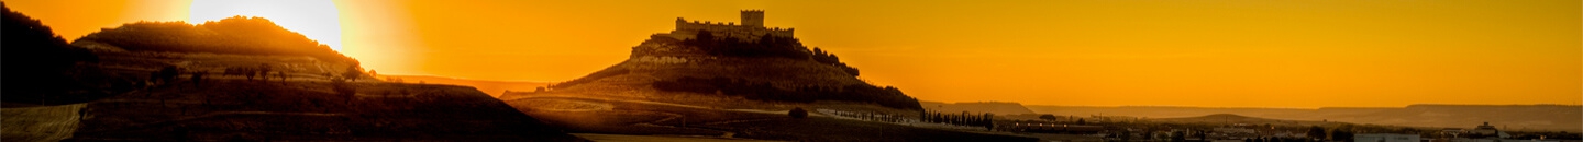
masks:
<svg viewBox="0 0 1583 142"><path fill-rule="evenodd" d="M676 17L766 9L924 101L1399 107L1583 103L1578 0L337 0L342 47L382 74L568 80ZM6 0L68 39L184 0Z"/></svg>

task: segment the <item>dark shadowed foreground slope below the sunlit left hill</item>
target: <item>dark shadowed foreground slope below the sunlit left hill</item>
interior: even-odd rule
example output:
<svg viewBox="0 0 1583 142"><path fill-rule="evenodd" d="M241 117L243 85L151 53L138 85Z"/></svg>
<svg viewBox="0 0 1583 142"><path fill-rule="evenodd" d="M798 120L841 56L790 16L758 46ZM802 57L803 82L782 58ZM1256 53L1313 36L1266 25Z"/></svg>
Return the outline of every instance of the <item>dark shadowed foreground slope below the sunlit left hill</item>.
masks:
<svg viewBox="0 0 1583 142"><path fill-rule="evenodd" d="M87 104L65 140L583 140L478 90L217 79Z"/></svg>

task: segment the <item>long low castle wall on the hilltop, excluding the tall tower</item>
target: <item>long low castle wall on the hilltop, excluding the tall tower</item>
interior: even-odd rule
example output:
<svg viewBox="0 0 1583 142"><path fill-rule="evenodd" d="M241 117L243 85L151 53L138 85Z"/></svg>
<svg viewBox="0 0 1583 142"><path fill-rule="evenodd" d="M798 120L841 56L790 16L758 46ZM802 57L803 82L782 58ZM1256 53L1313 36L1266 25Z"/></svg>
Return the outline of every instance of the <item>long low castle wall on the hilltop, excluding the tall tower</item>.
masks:
<svg viewBox="0 0 1583 142"><path fill-rule="evenodd" d="M795 28L766 28L766 27L747 27L736 24L719 24L719 22L687 22L685 19L676 19L676 30L671 36L678 39L692 39L697 36L698 30L711 32L714 36L731 36L739 39L758 39L758 36L792 36Z"/></svg>

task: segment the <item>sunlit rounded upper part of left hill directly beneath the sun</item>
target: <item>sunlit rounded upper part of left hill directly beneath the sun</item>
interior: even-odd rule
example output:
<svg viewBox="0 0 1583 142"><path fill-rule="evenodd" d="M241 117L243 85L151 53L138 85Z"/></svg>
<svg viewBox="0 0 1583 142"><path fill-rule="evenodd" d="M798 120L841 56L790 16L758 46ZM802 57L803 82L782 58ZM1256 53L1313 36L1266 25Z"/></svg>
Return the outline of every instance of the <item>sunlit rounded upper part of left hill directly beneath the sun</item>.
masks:
<svg viewBox="0 0 1583 142"><path fill-rule="evenodd" d="M290 32L263 17L226 17L187 22L133 22L89 33L74 46L104 50L211 52L245 55L307 55L325 62L356 63L329 46Z"/></svg>

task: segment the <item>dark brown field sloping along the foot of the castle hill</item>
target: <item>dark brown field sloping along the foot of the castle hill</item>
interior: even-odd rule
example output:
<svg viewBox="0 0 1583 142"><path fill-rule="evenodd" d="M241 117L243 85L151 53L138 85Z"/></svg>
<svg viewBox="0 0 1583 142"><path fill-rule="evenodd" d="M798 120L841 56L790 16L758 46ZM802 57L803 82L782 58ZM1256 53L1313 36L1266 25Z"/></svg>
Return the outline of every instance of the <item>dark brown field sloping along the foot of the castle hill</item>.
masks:
<svg viewBox="0 0 1583 142"><path fill-rule="evenodd" d="M774 112L592 98L524 98L508 104L568 133L712 136L806 142L1032 142L1034 137L928 129L893 123L792 118Z"/></svg>

